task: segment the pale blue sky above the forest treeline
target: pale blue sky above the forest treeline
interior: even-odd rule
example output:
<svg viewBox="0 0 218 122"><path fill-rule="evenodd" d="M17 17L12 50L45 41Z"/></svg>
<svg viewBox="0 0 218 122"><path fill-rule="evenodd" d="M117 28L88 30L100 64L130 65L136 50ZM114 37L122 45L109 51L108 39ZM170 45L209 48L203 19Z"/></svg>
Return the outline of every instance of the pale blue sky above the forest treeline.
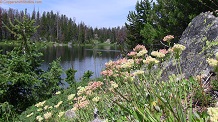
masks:
<svg viewBox="0 0 218 122"><path fill-rule="evenodd" d="M3 0L21 1L21 0ZM26 0L28 1L28 0ZM31 1L31 0L29 0ZM135 10L137 0L32 0L42 3L2 3L1 7L25 10L31 13L33 8L40 12L51 11L76 18L76 22L84 22L92 27L117 27L127 22L129 11Z"/></svg>

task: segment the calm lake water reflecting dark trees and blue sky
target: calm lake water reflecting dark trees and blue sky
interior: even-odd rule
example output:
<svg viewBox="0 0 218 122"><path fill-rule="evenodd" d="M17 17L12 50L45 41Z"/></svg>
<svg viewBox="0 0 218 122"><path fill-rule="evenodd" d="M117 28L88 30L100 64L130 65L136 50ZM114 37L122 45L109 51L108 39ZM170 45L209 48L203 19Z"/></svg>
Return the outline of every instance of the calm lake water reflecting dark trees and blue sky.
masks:
<svg viewBox="0 0 218 122"><path fill-rule="evenodd" d="M0 47L0 49L11 50L11 47ZM47 70L49 63L57 58L61 58L63 70L74 68L77 70L75 79L79 81L84 72L90 70L94 72L91 78L100 76L100 72L105 68L105 63L117 60L120 52L116 46L53 46L42 50L42 69ZM63 79L66 74L62 74Z"/></svg>

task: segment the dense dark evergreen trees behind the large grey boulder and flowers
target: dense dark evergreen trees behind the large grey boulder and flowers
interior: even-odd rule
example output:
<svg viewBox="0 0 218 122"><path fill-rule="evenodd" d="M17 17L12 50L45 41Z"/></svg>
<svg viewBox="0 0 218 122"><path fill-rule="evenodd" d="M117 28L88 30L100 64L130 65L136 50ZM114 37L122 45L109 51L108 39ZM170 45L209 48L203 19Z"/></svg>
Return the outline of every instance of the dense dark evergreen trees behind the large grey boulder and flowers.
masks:
<svg viewBox="0 0 218 122"><path fill-rule="evenodd" d="M127 44L130 49L137 44L160 49L164 36L174 35L176 42L195 16L217 7L215 0L140 0L127 17Z"/></svg>

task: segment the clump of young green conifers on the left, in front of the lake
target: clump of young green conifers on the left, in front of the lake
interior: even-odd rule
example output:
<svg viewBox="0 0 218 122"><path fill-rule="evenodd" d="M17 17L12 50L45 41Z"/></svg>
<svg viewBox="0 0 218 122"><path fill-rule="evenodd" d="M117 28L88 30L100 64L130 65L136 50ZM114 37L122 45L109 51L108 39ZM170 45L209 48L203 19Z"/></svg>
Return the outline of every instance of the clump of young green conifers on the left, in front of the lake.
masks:
<svg viewBox="0 0 218 122"><path fill-rule="evenodd" d="M34 21L23 18L6 28L17 36L20 46L7 54L0 54L0 118L12 121L15 114L43 99L48 99L60 90L61 73L59 61L53 61L48 71L43 71L39 48L30 42L37 27ZM5 109L5 104L8 107ZM11 114L10 111L15 111ZM7 112L7 115L5 115ZM8 120L9 119L9 120Z"/></svg>

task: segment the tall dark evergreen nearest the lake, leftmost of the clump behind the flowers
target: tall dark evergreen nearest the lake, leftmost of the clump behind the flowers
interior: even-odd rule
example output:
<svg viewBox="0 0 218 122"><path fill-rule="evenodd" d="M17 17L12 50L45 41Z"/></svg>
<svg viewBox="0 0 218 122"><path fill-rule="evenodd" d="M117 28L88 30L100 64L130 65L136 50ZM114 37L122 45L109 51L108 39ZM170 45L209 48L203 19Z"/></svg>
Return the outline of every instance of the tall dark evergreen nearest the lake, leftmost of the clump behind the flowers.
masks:
<svg viewBox="0 0 218 122"><path fill-rule="evenodd" d="M147 29L147 27L153 29L152 27L152 20L151 20L151 11L152 9L152 2L150 0L141 0L137 1L135 6L135 11L130 11L127 16L126 28L127 28L127 43L129 48L135 47L137 44L144 44L146 47L150 47L151 42L147 39L148 37L143 36L141 30ZM144 30L146 31L146 30ZM146 31L147 32L147 31ZM149 33L149 35L153 33Z"/></svg>

